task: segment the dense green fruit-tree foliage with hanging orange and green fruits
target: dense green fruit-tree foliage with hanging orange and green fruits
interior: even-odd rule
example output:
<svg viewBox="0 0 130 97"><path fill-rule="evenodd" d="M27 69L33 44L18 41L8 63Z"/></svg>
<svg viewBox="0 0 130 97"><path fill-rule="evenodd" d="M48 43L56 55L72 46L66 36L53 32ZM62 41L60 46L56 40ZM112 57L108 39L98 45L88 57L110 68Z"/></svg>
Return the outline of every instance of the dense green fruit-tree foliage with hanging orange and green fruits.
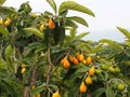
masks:
<svg viewBox="0 0 130 97"><path fill-rule="evenodd" d="M77 23L88 27L77 11L94 17L87 6L64 1L54 13L32 13L0 2L0 97L130 97L130 32L123 43L82 40ZM69 34L66 34L66 31Z"/></svg>

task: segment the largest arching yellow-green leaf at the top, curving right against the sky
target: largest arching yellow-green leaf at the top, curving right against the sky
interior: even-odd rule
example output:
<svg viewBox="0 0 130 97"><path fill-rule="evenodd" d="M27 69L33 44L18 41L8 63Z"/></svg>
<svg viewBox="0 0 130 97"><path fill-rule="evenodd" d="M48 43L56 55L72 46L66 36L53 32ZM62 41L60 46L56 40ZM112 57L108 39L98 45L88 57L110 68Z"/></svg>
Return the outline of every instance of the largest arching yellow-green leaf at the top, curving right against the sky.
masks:
<svg viewBox="0 0 130 97"><path fill-rule="evenodd" d="M82 12L82 13L89 14L91 16L94 16L94 13L90 9L79 4L77 2L74 2L74 1L65 1L65 2L63 2L60 5L58 14L61 14L65 10L74 10L74 11Z"/></svg>

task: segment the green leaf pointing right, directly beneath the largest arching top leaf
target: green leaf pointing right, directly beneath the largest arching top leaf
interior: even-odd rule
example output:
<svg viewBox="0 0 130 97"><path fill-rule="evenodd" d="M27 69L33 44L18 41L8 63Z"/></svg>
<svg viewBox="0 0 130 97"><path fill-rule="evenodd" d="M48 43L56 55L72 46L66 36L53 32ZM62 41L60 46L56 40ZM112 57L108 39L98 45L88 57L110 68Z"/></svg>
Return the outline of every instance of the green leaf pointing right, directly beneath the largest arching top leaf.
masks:
<svg viewBox="0 0 130 97"><path fill-rule="evenodd" d="M79 16L72 16L72 17L67 17L68 19L75 20L83 26L88 27L88 23L86 22L86 19L83 19L82 17Z"/></svg>

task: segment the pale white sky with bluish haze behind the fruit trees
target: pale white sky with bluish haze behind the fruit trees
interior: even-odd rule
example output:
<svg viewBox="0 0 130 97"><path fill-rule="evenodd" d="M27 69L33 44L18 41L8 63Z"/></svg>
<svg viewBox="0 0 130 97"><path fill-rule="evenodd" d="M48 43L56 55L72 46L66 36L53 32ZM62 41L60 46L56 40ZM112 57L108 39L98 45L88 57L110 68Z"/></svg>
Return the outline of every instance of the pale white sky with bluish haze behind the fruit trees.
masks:
<svg viewBox="0 0 130 97"><path fill-rule="evenodd" d="M53 11L46 0L6 0L4 5L20 8L21 3L29 1L34 12ZM65 0L55 0L60 5ZM79 26L78 31L89 31L88 39L98 41L102 38L108 38L115 41L122 41L123 36L116 29L116 26L130 28L130 0L73 0L87 8L95 14L90 15L69 11L69 15L82 16L89 24L89 27ZM15 2L15 3L14 3ZM107 33L105 32L107 30ZM103 32L104 31L104 32ZM108 32L110 31L110 32Z"/></svg>

